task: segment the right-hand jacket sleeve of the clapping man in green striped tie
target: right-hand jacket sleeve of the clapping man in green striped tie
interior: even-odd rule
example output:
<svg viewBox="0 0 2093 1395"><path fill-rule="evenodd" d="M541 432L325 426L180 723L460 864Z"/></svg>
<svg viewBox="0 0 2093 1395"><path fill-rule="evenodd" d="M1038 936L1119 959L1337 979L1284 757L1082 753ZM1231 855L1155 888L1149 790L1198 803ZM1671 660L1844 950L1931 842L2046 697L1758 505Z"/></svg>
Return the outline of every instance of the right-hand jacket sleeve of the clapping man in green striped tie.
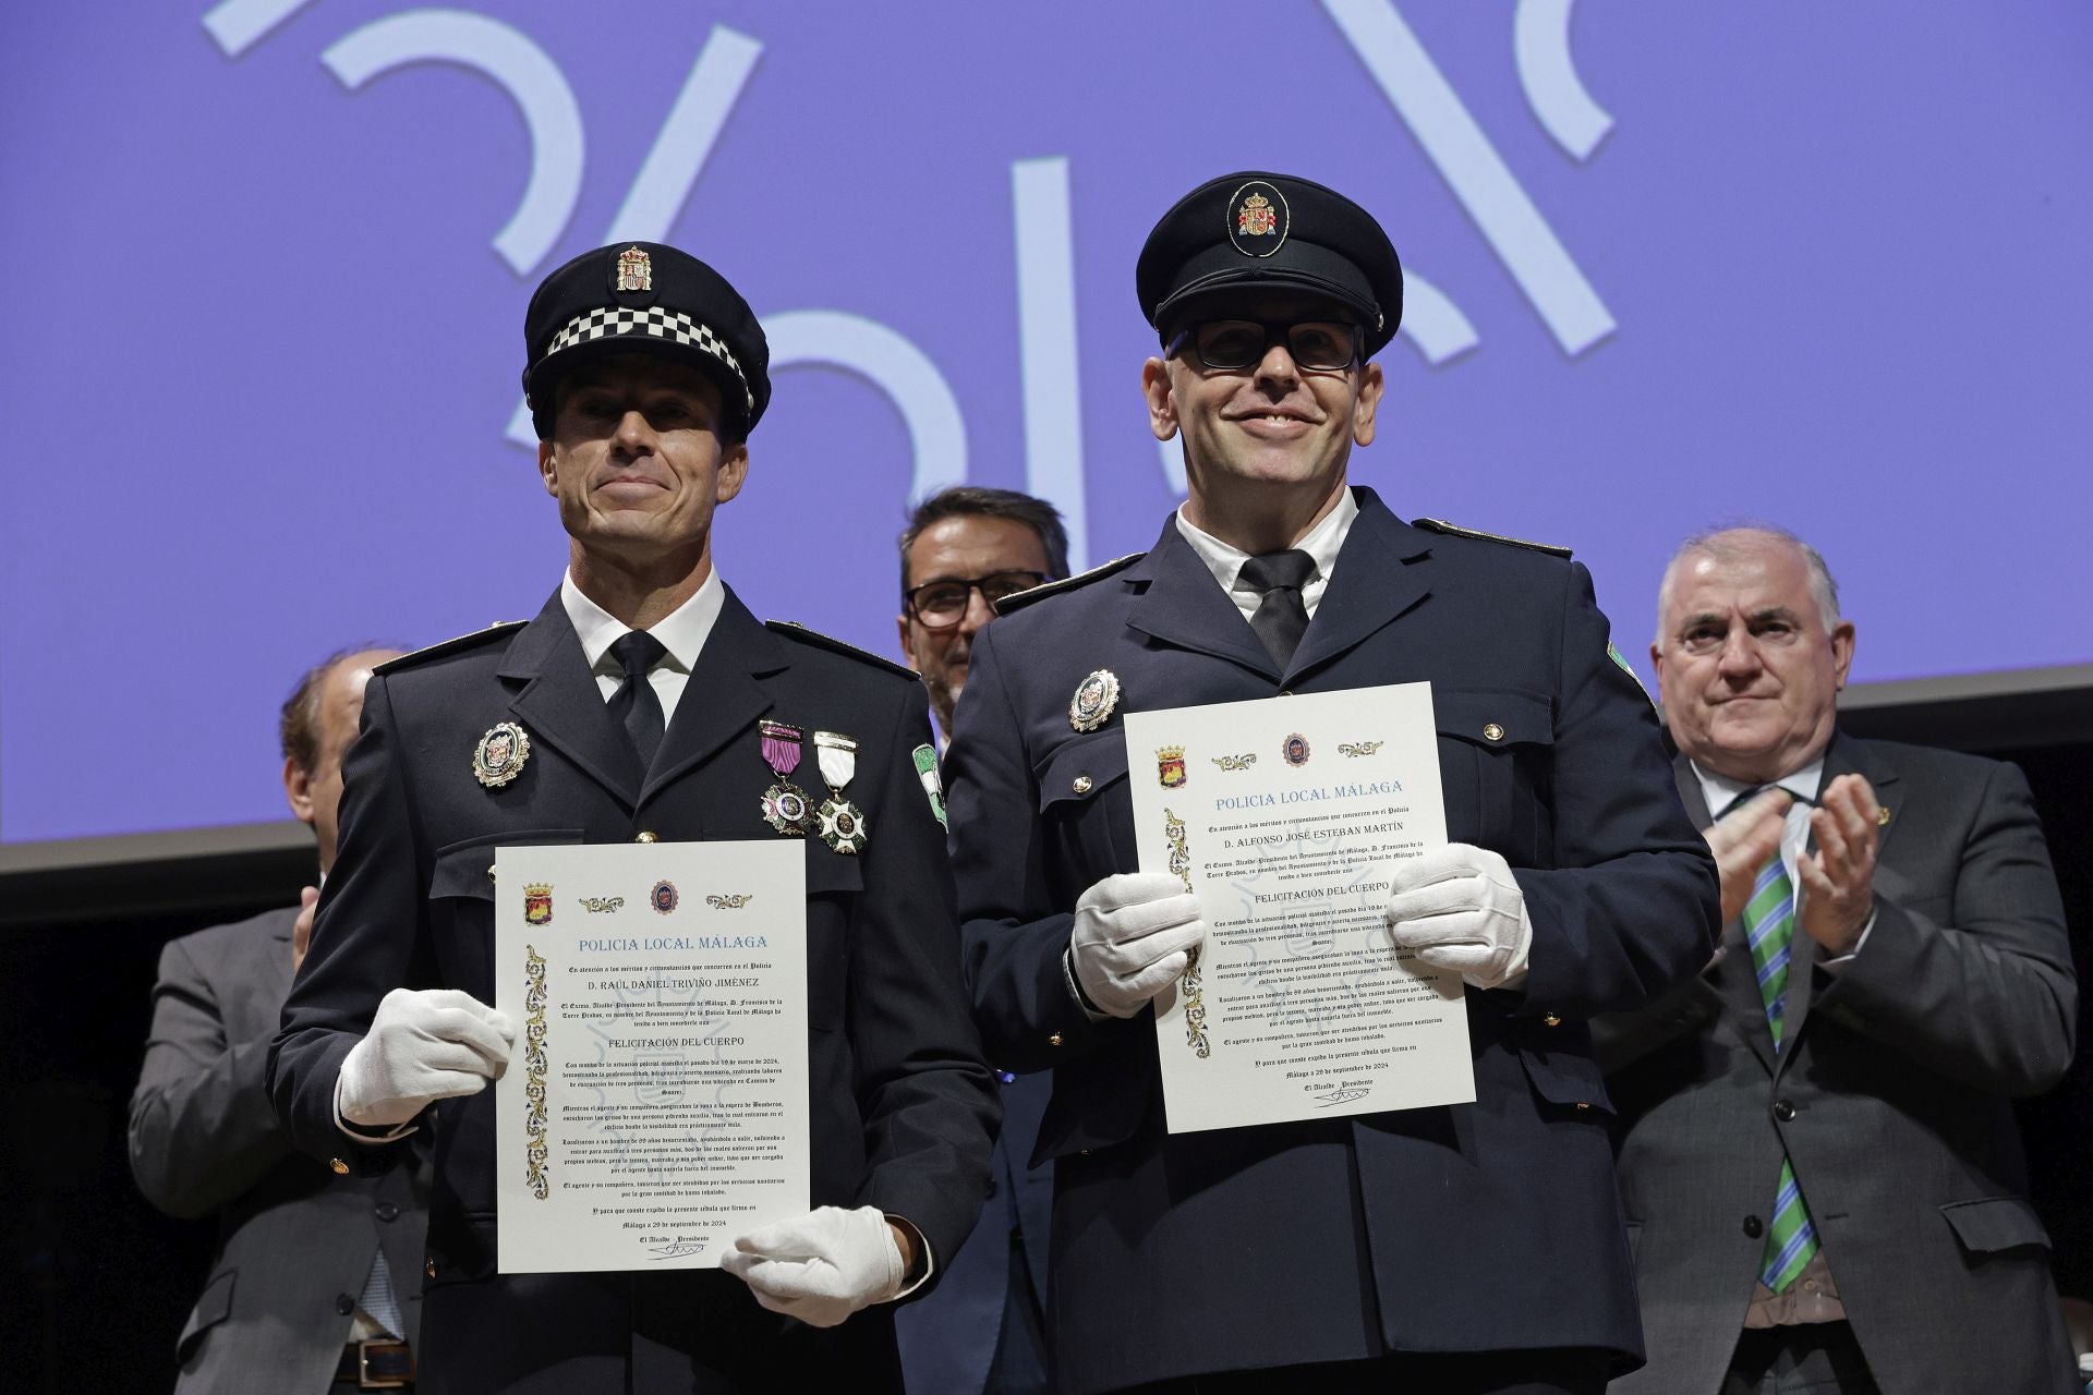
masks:
<svg viewBox="0 0 2093 1395"><path fill-rule="evenodd" d="M1959 847L1946 904L1884 895L1877 866L1875 927L1810 1012L1965 1085L2041 1094L2072 1062L2078 985L2020 768L1988 768Z"/></svg>

